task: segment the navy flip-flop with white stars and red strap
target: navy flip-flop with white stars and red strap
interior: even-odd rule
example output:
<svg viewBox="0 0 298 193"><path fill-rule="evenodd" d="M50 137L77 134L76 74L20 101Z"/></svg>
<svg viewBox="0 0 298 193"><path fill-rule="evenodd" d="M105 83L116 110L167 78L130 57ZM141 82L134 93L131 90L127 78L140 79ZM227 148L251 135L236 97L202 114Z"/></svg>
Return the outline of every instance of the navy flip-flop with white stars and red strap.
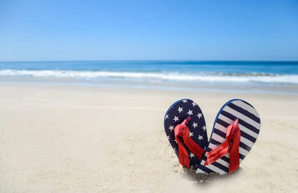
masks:
<svg viewBox="0 0 298 193"><path fill-rule="evenodd" d="M208 145L205 118L198 104L191 99L173 103L164 116L164 130L179 163L197 169Z"/></svg>

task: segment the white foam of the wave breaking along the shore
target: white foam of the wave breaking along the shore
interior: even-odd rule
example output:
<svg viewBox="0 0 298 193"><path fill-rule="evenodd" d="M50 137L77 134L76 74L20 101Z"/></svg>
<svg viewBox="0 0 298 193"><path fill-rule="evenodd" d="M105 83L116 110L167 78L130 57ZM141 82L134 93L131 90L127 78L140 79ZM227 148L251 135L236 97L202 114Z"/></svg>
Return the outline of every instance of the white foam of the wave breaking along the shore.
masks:
<svg viewBox="0 0 298 193"><path fill-rule="evenodd" d="M30 76L30 77L58 77L58 78L124 78L150 79L154 81L206 81L206 82L258 82L258 83L286 83L298 84L298 75L220 75L220 74L183 74L183 73L138 73L138 72L102 72L102 71L59 71L59 70L0 70L1 77Z"/></svg>

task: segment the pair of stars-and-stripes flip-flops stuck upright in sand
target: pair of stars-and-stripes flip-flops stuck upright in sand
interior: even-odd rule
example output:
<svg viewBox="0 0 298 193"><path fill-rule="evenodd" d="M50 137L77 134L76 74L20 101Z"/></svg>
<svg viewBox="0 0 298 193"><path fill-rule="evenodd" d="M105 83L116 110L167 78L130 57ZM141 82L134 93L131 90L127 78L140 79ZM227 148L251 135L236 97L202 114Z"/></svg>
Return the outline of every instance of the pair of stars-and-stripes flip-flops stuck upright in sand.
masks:
<svg viewBox="0 0 298 193"><path fill-rule="evenodd" d="M193 100L176 101L164 117L164 130L179 163L196 169L196 173L236 171L256 142L260 127L257 110L241 99L223 105L210 140L203 112Z"/></svg>

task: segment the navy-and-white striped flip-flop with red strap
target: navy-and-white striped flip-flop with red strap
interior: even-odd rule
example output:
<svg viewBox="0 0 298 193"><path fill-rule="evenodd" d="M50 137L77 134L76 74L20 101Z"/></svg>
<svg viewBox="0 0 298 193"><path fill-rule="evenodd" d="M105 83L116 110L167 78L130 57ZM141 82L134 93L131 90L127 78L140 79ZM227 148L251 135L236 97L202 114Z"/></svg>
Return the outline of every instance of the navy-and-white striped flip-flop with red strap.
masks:
<svg viewBox="0 0 298 193"><path fill-rule="evenodd" d="M260 132L257 110L248 102L232 99L220 109L207 151L196 173L230 174L239 168Z"/></svg>

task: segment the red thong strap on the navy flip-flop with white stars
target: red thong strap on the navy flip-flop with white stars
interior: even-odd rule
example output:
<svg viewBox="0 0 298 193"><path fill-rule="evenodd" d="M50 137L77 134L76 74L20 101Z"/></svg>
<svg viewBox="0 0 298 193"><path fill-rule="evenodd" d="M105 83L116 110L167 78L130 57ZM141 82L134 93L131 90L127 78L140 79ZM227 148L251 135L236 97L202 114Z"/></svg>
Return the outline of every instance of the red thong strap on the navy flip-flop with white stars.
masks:
<svg viewBox="0 0 298 193"><path fill-rule="evenodd" d="M188 152L185 149L185 147L182 144L181 139L178 137L182 137L184 140L185 145L191 151L194 155L196 155L200 160L203 157L203 154L205 153L204 149L201 148L196 142L194 142L190 136L189 136L189 129L186 126L186 123L190 120L190 117L187 117L181 124L178 124L174 128L175 133L175 139L178 143L178 155L179 155L179 163L189 168L189 158L188 158Z"/></svg>

